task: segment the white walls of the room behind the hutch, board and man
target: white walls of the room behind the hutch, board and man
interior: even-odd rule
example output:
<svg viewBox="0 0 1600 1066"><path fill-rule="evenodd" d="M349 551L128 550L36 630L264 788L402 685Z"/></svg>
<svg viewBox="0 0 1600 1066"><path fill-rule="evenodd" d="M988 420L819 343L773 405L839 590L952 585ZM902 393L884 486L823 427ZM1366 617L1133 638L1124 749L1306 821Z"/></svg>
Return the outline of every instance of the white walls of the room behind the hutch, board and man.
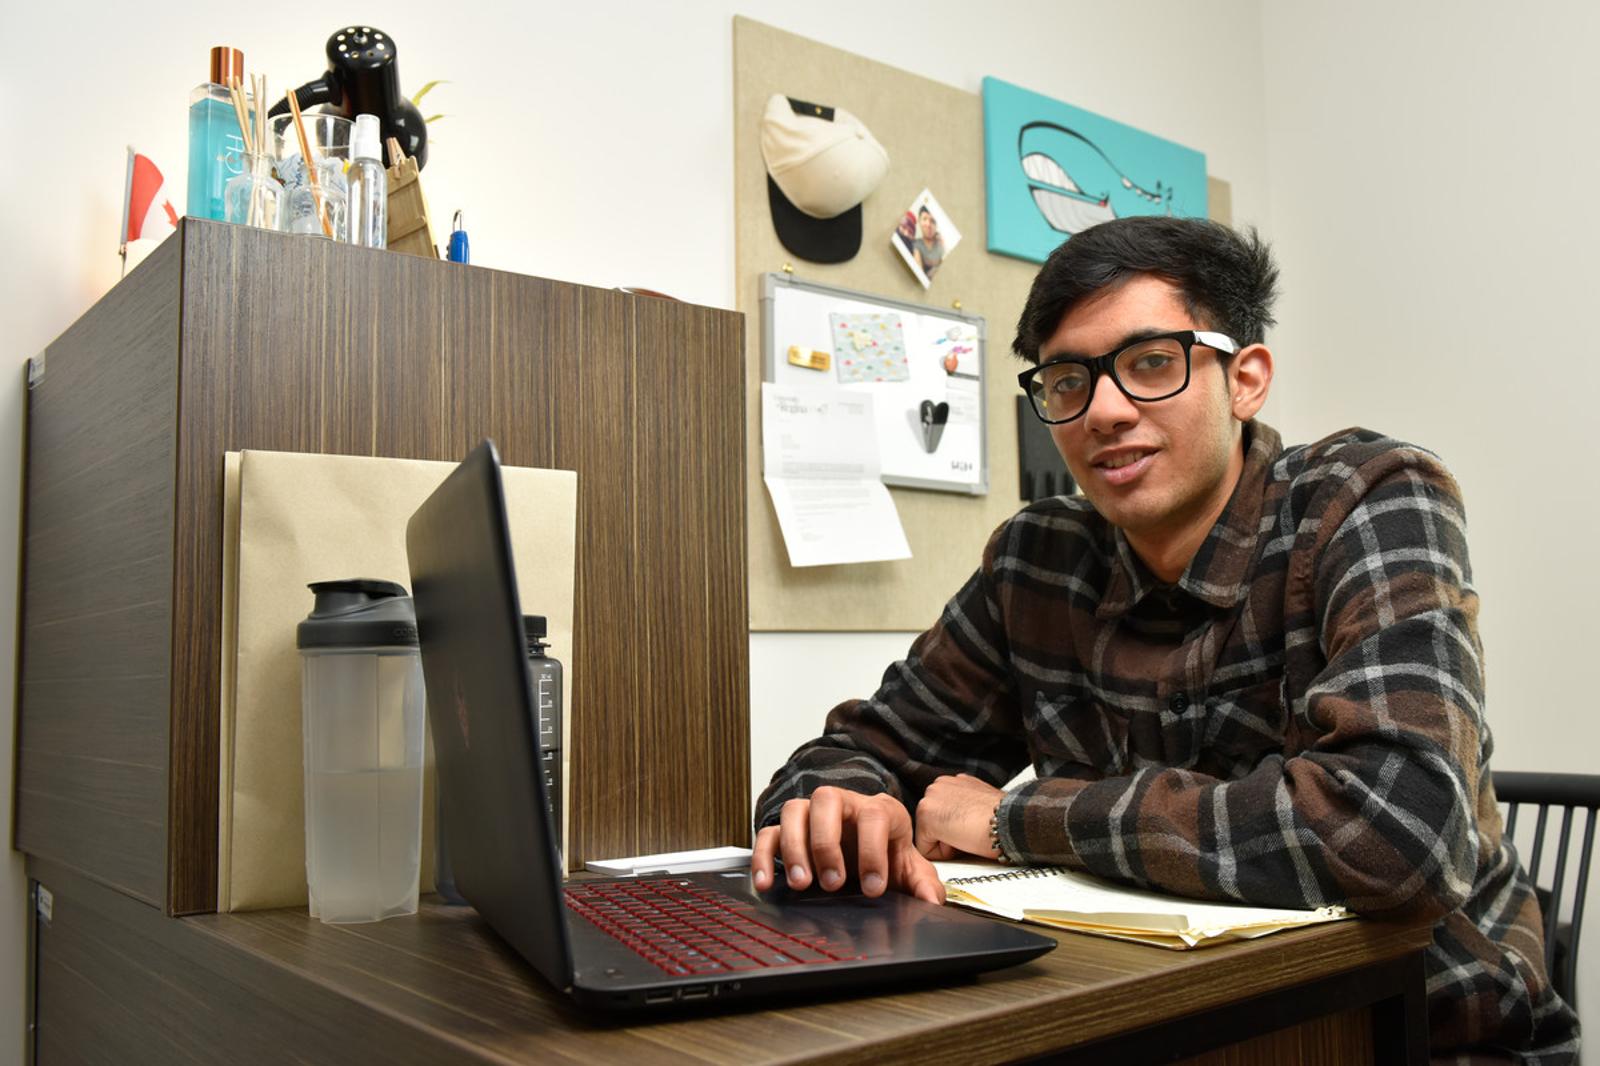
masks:
<svg viewBox="0 0 1600 1066"><path fill-rule="evenodd" d="M21 363L115 282L123 144L163 166L182 206L184 102L211 43L245 48L282 90L318 72L338 19L379 19L410 88L451 82L429 98L429 110L450 117L424 178L435 221L466 210L475 262L733 306L736 10L973 91L995 74L1205 150L1234 184L1235 219L1259 224L1285 266L1269 418L1288 439L1362 423L1443 453L1474 522L1499 765L1582 768L1597 727L1563 711L1584 706L1579 663L1595 627L1581 611L1600 592L1576 562L1600 507L1581 407L1600 384L1582 333L1600 288L1587 254L1600 235L1587 0L1517 14L1483 0L448 11L392 0L330 11L326 26L194 0L155 18L106 0L10 3L0 16L0 144L11 149L0 152L0 648L14 621L5 560L16 549ZM1558 368L1562 384L1542 389L1536 367ZM832 703L870 688L907 640L754 635L755 783ZM11 690L0 653L0 714ZM0 728L8 821L10 746ZM19 1047L22 1004L24 885L8 858L0 1063Z"/></svg>

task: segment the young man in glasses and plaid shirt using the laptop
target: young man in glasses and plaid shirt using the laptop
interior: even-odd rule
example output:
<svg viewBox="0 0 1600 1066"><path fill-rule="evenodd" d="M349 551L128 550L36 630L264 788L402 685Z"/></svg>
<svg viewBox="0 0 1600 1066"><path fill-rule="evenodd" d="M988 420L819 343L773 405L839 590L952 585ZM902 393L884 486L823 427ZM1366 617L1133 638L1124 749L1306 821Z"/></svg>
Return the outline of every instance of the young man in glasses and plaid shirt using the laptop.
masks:
<svg viewBox="0 0 1600 1066"><path fill-rule="evenodd" d="M1456 483L1366 431L1283 448L1277 267L1128 218L1058 248L1013 344L1082 496L1035 503L757 808L752 872L939 901L930 860L1437 920L1435 1055L1570 1063L1488 773ZM1035 779L1002 791L1024 767Z"/></svg>

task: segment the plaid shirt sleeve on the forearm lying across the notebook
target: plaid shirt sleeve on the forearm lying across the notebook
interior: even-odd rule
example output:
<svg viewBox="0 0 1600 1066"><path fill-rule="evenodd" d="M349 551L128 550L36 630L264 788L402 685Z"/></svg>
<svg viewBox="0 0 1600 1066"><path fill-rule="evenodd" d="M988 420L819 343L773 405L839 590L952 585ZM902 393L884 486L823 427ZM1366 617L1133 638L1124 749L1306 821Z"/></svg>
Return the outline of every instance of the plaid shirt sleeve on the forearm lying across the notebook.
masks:
<svg viewBox="0 0 1600 1066"><path fill-rule="evenodd" d="M1450 474L1387 448L1326 477L1291 551L1283 754L1010 792L1010 855L1190 896L1440 916L1477 869L1477 594ZM1246 607L1248 610L1248 607ZM1293 683L1296 677L1304 683Z"/></svg>

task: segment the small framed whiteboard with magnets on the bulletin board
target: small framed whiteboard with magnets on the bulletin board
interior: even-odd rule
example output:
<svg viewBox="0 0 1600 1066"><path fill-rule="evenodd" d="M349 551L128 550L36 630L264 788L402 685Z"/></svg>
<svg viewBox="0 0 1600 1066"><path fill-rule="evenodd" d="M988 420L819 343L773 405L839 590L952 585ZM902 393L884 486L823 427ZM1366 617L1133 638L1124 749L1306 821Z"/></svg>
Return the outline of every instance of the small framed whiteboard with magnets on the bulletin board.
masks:
<svg viewBox="0 0 1600 1066"><path fill-rule="evenodd" d="M870 394L885 485L989 493L981 315L765 274L762 375Z"/></svg>

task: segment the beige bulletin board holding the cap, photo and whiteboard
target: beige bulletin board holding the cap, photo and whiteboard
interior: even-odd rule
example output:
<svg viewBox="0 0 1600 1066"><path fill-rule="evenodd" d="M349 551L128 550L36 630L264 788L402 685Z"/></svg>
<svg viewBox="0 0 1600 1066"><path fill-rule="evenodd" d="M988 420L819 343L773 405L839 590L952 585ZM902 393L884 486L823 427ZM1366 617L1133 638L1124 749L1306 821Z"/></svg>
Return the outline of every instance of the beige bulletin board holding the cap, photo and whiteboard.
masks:
<svg viewBox="0 0 1600 1066"><path fill-rule="evenodd" d="M997 70L1005 75L1005 70ZM760 118L782 93L853 112L890 155L862 203L861 251L840 264L792 256L773 230ZM1018 315L1038 266L986 251L982 101L746 18L733 19L734 277L746 336L746 493L752 631L904 631L931 626L978 567L984 543L1021 506L1016 463ZM962 243L928 290L890 245L896 219L930 189L960 227ZM1210 182L1213 218L1227 219L1227 187ZM762 483L762 275L789 266L803 282L870 293L987 322L984 424L989 491L963 496L891 488L912 557L848 567L789 565Z"/></svg>

